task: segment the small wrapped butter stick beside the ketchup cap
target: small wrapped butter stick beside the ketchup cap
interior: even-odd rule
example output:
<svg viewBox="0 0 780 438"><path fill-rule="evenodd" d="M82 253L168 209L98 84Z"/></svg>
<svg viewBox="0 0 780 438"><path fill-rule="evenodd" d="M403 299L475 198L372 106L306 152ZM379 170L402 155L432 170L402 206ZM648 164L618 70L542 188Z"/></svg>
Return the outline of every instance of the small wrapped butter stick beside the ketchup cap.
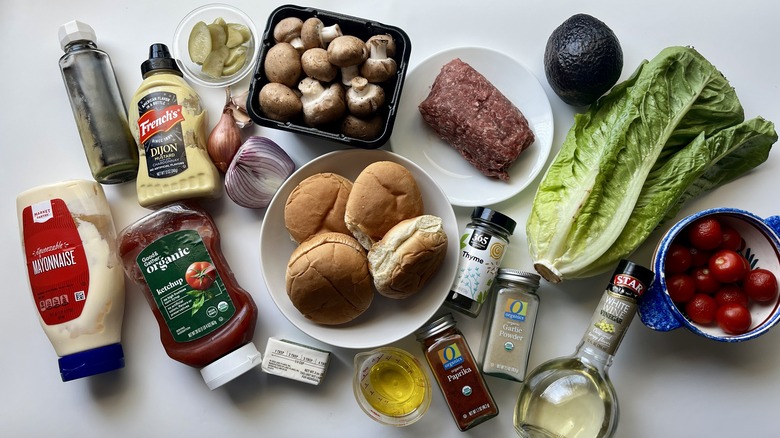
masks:
<svg viewBox="0 0 780 438"><path fill-rule="evenodd" d="M330 352L286 339L268 338L262 370L268 374L319 385L325 377Z"/></svg>

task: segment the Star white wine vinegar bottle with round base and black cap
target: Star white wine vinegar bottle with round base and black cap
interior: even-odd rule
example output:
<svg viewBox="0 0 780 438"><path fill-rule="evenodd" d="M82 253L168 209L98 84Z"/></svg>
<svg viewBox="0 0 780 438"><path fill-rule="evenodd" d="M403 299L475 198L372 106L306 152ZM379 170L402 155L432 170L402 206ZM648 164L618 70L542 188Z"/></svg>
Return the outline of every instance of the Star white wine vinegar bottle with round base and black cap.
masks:
<svg viewBox="0 0 780 438"><path fill-rule="evenodd" d="M618 400L607 371L653 272L622 260L604 291L582 342L571 356L528 374L515 406L521 437L611 437Z"/></svg>

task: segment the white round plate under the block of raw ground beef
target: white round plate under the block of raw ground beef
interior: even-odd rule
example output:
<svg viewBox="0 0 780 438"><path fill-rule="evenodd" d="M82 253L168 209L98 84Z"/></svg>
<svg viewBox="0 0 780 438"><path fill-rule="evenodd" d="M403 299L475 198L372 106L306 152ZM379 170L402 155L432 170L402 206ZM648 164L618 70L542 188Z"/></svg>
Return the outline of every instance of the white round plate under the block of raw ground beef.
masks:
<svg viewBox="0 0 780 438"><path fill-rule="evenodd" d="M430 93L441 68L455 58L470 64L493 83L520 109L534 132L534 143L509 169L509 181L480 173L433 132L417 109ZM544 168L552 139L550 101L536 77L507 55L481 47L462 47L439 52L409 72L390 148L425 169L453 205L476 207L504 201L528 187Z"/></svg>

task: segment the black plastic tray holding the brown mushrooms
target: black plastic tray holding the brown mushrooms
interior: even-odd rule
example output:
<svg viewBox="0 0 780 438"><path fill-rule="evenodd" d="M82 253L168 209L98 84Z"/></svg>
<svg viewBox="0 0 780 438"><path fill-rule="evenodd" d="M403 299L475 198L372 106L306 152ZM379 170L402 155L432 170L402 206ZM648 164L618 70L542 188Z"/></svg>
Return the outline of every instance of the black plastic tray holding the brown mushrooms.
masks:
<svg viewBox="0 0 780 438"><path fill-rule="evenodd" d="M260 90L269 83L264 69L265 58L268 54L268 50L276 43L273 36L274 27L277 23L287 17L298 17L304 21L311 17L317 17L322 21L324 26L338 24L344 35L353 35L363 41L368 40L368 38L373 35L382 34L390 35L393 40L395 40L396 52L393 59L395 59L398 65L398 70L392 78L380 84L385 92L385 104L378 110L378 114L383 120L383 126L377 137L361 139L344 135L340 132L340 122L314 128L304 124L302 114L291 121L282 122L271 119L263 113L260 108L259 94ZM280 6L268 17L268 23L266 24L263 33L254 76L252 77L249 87L247 111L252 120L260 126L304 134L363 149L376 149L382 147L390 139L390 135L393 132L393 124L395 123L396 111L400 104L401 91L409 65L411 50L412 43L409 40L409 36L398 27L310 7L295 5ZM302 75L301 79L304 77L305 75ZM336 80L339 79L337 78Z"/></svg>

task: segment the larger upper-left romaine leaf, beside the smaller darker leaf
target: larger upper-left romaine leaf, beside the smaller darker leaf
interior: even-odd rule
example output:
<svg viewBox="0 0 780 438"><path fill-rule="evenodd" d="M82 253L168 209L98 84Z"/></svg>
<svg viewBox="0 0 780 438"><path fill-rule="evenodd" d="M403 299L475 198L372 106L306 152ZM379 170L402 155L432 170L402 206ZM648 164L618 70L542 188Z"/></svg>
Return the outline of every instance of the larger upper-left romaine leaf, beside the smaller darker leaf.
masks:
<svg viewBox="0 0 780 438"><path fill-rule="evenodd" d="M734 89L694 49L670 47L642 63L575 116L542 178L526 223L537 271L552 282L587 273L620 238L649 176L669 175L661 169L677 152L743 119ZM688 185L663 182L680 193ZM665 213L648 210L631 226L649 233Z"/></svg>

